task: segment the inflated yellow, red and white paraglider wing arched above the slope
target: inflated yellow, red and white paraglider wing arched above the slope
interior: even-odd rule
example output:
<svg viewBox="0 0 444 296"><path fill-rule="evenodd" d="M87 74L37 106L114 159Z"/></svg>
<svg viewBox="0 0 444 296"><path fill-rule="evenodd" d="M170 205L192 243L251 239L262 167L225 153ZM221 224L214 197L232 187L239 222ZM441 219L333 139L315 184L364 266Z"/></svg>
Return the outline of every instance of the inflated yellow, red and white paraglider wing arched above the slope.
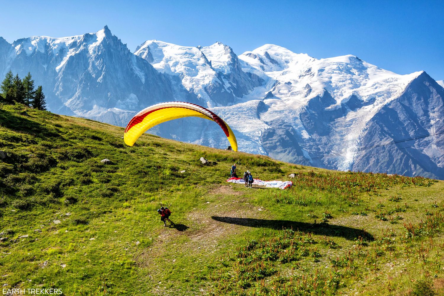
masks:
<svg viewBox="0 0 444 296"><path fill-rule="evenodd" d="M128 123L123 140L133 146L137 139L151 127L159 123L182 117L200 117L216 122L225 133L231 148L238 151L238 142L230 126L210 110L192 103L167 102L153 105L137 113Z"/></svg>

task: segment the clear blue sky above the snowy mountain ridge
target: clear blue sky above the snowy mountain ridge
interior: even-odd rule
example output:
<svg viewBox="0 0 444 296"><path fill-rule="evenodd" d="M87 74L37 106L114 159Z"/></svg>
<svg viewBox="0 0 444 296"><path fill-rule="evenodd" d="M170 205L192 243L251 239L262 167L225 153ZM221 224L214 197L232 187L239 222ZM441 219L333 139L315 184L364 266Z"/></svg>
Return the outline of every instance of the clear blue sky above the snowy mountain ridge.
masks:
<svg viewBox="0 0 444 296"><path fill-rule="evenodd" d="M421 3L424 2L424 3ZM105 24L131 51L147 39L265 43L315 58L353 54L399 74L444 79L444 1L5 1L0 36L72 36Z"/></svg>

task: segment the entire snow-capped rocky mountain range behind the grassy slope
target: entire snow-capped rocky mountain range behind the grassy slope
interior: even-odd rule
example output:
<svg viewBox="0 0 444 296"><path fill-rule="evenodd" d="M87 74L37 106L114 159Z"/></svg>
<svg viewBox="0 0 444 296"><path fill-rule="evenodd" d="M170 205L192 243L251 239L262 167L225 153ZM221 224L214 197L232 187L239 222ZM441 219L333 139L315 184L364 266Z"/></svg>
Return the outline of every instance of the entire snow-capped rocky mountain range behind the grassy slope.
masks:
<svg viewBox="0 0 444 296"><path fill-rule="evenodd" d="M444 88L353 55L315 59L266 44L148 40L132 54L107 27L66 38L0 38L0 71L31 71L52 111L125 126L143 107L189 101L230 124L239 149L340 170L444 179ZM183 118L151 133L224 148L214 122ZM427 136L430 134L430 136ZM404 141L404 139L411 139ZM393 143L396 142L396 143Z"/></svg>

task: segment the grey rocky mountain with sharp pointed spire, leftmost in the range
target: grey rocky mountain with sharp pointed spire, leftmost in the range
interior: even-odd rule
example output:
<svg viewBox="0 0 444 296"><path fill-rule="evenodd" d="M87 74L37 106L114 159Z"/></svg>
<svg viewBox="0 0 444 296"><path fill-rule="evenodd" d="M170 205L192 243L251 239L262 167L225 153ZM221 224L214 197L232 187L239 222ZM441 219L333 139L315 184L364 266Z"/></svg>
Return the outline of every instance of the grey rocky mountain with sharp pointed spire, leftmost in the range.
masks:
<svg viewBox="0 0 444 296"><path fill-rule="evenodd" d="M107 26L99 32L72 37L33 36L9 47L2 72L21 77L31 71L41 83L51 111L125 124L133 112L174 98L170 80L150 63L131 53ZM4 53L3 53L4 52ZM131 114L129 114L131 113ZM128 114L119 118L121 114Z"/></svg>

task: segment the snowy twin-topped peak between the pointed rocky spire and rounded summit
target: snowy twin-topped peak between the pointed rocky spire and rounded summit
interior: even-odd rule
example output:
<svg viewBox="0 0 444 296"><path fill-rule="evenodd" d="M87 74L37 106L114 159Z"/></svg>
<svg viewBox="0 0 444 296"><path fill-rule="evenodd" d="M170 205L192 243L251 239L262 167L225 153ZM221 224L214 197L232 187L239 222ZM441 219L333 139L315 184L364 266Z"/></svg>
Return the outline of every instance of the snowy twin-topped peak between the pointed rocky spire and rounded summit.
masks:
<svg viewBox="0 0 444 296"><path fill-rule="evenodd" d="M136 48L135 55L170 75L179 98L183 99L185 89L208 107L233 104L262 84L257 75L242 71L238 56L220 42L208 47L184 47L148 40Z"/></svg>

